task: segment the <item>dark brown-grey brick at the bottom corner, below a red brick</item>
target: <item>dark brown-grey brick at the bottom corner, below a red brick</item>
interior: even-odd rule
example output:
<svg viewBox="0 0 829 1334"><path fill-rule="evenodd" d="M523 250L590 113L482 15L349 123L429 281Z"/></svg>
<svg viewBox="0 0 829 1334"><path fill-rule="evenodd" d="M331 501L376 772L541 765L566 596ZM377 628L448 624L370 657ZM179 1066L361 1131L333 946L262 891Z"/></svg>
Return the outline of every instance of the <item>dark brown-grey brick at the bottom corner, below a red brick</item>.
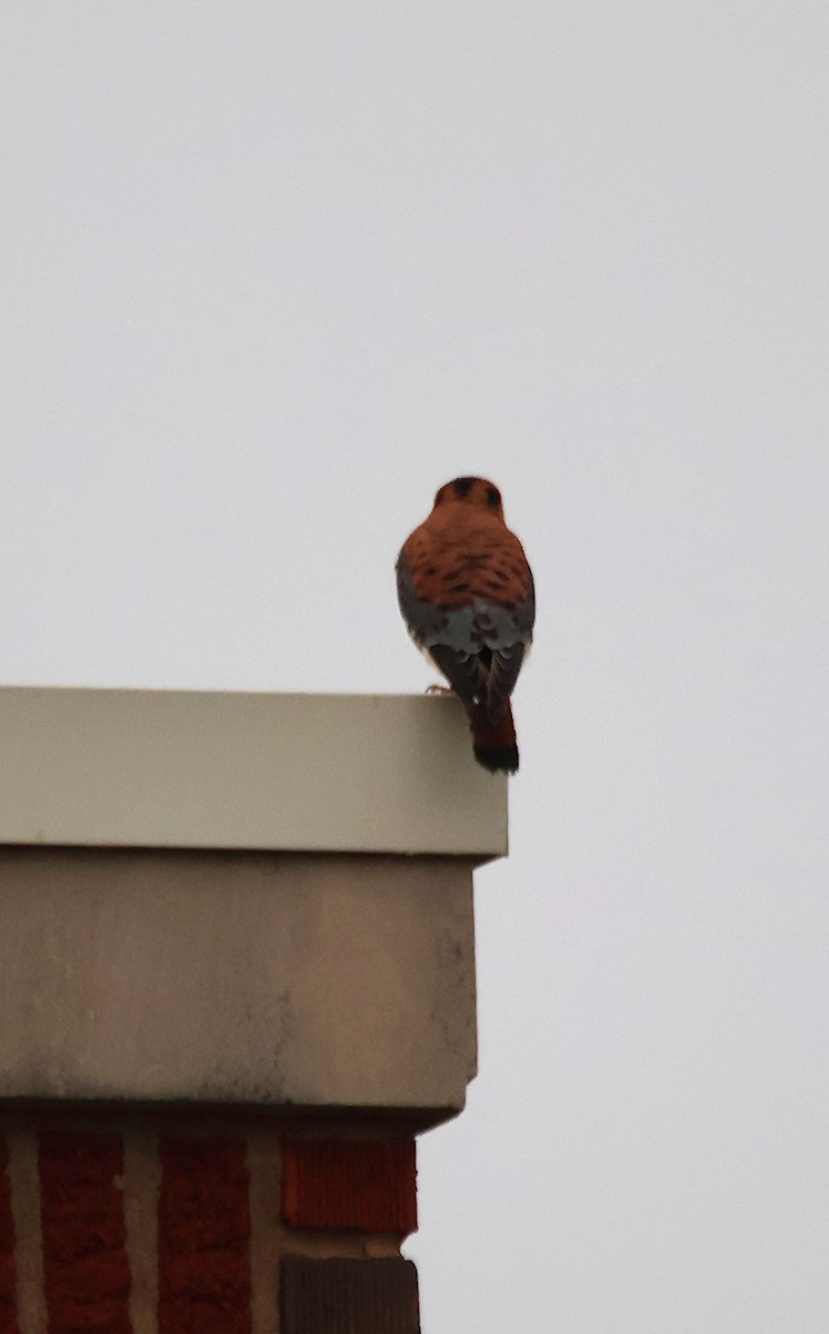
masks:
<svg viewBox="0 0 829 1334"><path fill-rule="evenodd" d="M280 1274L280 1334L420 1334L409 1259L287 1255Z"/></svg>

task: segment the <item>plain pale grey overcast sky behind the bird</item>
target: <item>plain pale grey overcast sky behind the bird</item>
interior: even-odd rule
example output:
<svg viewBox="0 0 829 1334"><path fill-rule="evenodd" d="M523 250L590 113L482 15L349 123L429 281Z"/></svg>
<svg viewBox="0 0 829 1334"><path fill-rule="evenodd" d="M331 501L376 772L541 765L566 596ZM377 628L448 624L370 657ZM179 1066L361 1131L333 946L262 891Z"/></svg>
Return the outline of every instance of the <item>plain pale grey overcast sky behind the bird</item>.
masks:
<svg viewBox="0 0 829 1334"><path fill-rule="evenodd" d="M4 683L420 691L536 571L425 1334L825 1334L822 4L0 13Z"/></svg>

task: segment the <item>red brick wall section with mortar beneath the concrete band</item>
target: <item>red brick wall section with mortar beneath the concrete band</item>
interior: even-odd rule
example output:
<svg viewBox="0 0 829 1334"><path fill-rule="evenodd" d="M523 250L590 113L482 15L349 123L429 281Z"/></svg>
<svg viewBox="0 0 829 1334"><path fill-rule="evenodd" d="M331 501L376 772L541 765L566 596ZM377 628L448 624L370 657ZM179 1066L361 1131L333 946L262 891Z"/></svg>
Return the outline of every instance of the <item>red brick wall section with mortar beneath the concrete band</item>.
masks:
<svg viewBox="0 0 829 1334"><path fill-rule="evenodd" d="M39 1310L48 1334L418 1334L414 1142L388 1123L33 1129L15 1173L0 1122L0 1334Z"/></svg>

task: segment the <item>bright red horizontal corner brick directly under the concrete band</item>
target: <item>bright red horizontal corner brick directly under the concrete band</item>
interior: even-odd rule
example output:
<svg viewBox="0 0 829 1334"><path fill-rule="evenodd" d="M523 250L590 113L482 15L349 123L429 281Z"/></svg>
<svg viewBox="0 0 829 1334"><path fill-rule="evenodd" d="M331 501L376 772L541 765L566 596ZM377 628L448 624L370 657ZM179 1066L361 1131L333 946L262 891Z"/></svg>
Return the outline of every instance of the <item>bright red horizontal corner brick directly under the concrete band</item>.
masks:
<svg viewBox="0 0 829 1334"><path fill-rule="evenodd" d="M417 1227L414 1141L288 1141L283 1221L407 1237Z"/></svg>

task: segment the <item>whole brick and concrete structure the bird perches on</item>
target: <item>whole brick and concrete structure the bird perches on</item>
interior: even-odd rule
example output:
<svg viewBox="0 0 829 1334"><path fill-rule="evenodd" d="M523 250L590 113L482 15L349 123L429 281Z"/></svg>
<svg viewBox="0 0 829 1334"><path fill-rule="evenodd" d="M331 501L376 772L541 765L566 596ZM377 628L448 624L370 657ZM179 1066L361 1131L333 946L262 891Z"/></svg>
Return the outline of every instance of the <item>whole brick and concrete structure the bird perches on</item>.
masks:
<svg viewBox="0 0 829 1334"><path fill-rule="evenodd" d="M417 1334L506 782L449 698L0 690L0 1334Z"/></svg>

